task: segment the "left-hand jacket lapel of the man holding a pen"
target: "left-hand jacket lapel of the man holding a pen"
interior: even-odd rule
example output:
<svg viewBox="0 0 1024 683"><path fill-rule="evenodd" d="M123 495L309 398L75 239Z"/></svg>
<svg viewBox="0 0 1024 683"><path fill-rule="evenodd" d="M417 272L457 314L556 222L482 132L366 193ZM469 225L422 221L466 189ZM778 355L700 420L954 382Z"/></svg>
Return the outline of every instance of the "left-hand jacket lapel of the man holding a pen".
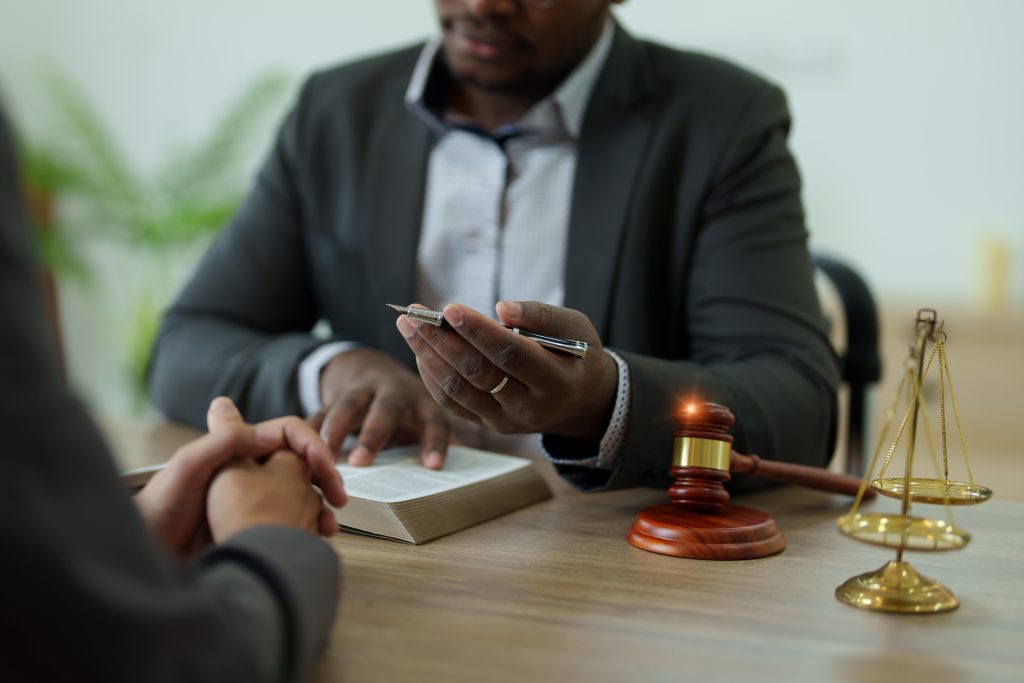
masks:
<svg viewBox="0 0 1024 683"><path fill-rule="evenodd" d="M393 95L401 102L401 93ZM404 105L391 106L374 128L369 145L370 171L364 187L367 203L369 291L377 339L392 352L407 354L386 303L409 304L415 293L416 249L423 215L427 158L433 141L429 128Z"/></svg>

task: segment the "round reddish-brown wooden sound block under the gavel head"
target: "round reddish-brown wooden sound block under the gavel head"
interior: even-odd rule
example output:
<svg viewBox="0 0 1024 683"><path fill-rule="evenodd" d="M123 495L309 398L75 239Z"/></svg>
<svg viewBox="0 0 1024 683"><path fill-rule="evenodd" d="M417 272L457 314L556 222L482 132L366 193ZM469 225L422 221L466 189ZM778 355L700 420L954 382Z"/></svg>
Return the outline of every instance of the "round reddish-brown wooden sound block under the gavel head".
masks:
<svg viewBox="0 0 1024 683"><path fill-rule="evenodd" d="M713 512L652 505L637 515L627 540L641 550L697 560L750 560L785 548L774 519L741 505Z"/></svg>

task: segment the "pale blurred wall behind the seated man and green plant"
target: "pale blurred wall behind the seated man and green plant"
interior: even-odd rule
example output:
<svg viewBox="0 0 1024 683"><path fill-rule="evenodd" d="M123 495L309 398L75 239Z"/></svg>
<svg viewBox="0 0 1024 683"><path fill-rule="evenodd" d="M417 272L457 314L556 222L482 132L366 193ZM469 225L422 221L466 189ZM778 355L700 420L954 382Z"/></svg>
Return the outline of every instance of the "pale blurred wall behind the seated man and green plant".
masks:
<svg viewBox="0 0 1024 683"><path fill-rule="evenodd" d="M1024 2L629 0L616 15L785 88L812 247L858 267L898 325L928 305L1020 327ZM429 0L0 0L0 91L30 145L46 144L60 134L46 75L62 74L147 174L275 70L288 86L246 147L248 176L305 74L434 31ZM170 296L203 246L164 259L152 296ZM83 248L92 284L60 279L69 370L98 410L136 410L119 356L157 266Z"/></svg>

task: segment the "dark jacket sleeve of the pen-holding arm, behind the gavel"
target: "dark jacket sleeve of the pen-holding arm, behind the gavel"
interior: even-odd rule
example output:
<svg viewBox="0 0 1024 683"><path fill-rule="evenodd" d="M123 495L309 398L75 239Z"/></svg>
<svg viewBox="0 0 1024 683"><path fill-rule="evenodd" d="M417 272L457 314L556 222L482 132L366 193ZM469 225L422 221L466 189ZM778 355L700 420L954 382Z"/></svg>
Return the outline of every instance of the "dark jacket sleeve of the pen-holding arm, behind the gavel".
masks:
<svg viewBox="0 0 1024 683"><path fill-rule="evenodd" d="M737 115L701 204L680 312L685 359L616 349L631 376L627 438L613 472L561 466L578 486L664 485L676 429L671 409L691 395L732 410L737 451L826 464L839 370L814 287L790 125L781 90L761 83Z"/></svg>

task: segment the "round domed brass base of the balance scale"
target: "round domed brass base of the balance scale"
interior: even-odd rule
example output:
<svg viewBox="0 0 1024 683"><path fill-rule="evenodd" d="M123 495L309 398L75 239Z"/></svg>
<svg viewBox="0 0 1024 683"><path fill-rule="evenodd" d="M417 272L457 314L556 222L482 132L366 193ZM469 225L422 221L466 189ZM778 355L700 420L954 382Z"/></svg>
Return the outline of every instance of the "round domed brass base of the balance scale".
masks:
<svg viewBox="0 0 1024 683"><path fill-rule="evenodd" d="M848 580L836 589L836 597L853 607L905 614L933 614L959 606L948 588L918 573L909 562L896 560Z"/></svg>

